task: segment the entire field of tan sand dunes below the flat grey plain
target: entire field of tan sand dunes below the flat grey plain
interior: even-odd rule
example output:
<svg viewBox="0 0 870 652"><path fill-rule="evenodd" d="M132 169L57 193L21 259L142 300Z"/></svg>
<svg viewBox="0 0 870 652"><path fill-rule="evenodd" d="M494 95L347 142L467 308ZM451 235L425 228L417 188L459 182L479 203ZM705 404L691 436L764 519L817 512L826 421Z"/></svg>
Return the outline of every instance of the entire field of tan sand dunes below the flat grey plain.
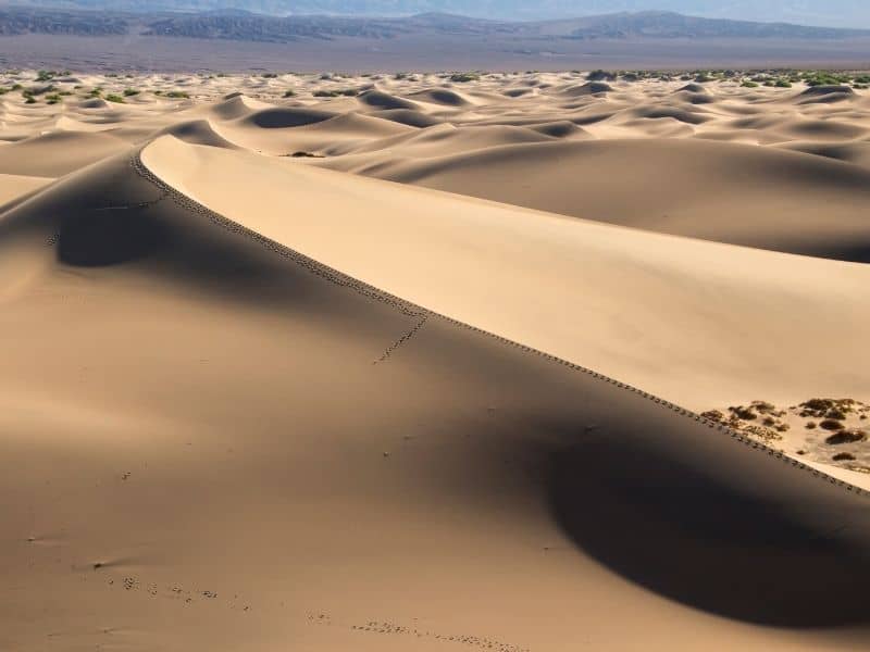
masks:
<svg viewBox="0 0 870 652"><path fill-rule="evenodd" d="M867 648L868 91L49 83L0 649Z"/></svg>

